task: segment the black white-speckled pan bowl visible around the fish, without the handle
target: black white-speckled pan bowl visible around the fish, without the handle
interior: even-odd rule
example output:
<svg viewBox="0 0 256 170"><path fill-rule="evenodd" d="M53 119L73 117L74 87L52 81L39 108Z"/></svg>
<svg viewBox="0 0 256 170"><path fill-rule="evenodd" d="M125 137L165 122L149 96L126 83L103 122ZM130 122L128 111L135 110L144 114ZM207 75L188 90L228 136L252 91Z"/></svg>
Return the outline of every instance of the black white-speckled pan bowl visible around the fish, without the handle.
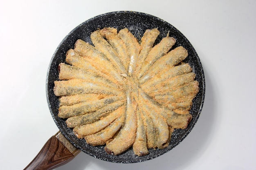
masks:
<svg viewBox="0 0 256 170"><path fill-rule="evenodd" d="M58 117L58 97L56 97L53 93L54 81L58 80L58 64L65 62L65 53L69 49L74 48L74 43L77 39L82 39L91 43L90 33L98 28L102 29L104 27L115 27L118 30L126 27L138 40L141 39L146 29L158 28L160 35L157 38L156 43L158 43L162 38L166 37L168 31L170 31L169 35L173 36L177 40L174 47L183 46L189 52L189 56L186 58L186 60L184 60L184 62L189 63L193 68L193 72L196 74L195 79L199 82L200 91L193 100L193 106L190 111L191 115L193 116L192 121L186 129L176 129L173 132L170 145L167 148L162 150L150 149L149 154L143 157L137 157L134 155L132 149L127 150L119 156L108 155L104 150L104 146L90 146L86 144L85 139L78 139L73 134L72 129L67 128L65 120ZM116 163L134 163L153 159L168 152L177 146L177 144L179 144L186 137L186 135L189 134L198 120L202 110L205 93L205 81L202 65L198 55L193 46L184 37L184 35L180 33L180 31L174 28L171 24L168 24L167 22L152 15L132 11L118 11L102 14L83 22L63 39L61 44L56 49L48 68L46 93L49 109L56 125L61 130L63 135L65 135L65 137L67 137L67 139L74 144L74 146L88 155L105 161Z"/></svg>

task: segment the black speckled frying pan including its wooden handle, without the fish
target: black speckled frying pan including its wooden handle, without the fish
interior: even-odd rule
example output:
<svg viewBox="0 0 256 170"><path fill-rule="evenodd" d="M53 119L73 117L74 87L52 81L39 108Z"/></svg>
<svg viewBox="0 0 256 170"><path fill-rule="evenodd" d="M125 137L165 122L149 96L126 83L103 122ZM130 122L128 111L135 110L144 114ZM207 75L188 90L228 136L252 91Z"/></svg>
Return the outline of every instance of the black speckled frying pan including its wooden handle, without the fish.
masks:
<svg viewBox="0 0 256 170"><path fill-rule="evenodd" d="M58 64L65 62L65 53L69 49L74 48L76 40L82 39L92 44L90 40L90 33L98 28L102 29L104 27L115 27L118 30L126 27L138 40L141 39L146 29L158 28L160 35L155 42L156 44L159 43L162 38L166 37L169 31L169 35L176 39L176 44L173 48L183 46L187 49L189 55L184 62L189 63L193 68L193 72L196 74L195 79L199 82L200 90L198 95L193 99L193 106L190 110L190 114L193 117L192 121L186 129L176 129L173 132L172 139L168 147L162 150L150 149L149 154L142 157L134 155L131 148L118 156L109 155L105 152L104 146L90 146L85 142L85 139L77 138L72 132L72 129L67 127L65 119L58 117L59 101L58 97L56 97L53 92L54 81L58 80ZM49 110L60 132L47 141L36 158L25 169L56 168L73 159L80 150L95 158L114 163L136 163L159 157L180 144L189 132L191 132L200 116L204 102L204 94L205 79L200 59L189 40L187 40L187 38L174 26L153 15L134 11L115 11L98 15L74 28L62 40L52 57L47 72L46 95ZM47 156L46 158L45 155Z"/></svg>

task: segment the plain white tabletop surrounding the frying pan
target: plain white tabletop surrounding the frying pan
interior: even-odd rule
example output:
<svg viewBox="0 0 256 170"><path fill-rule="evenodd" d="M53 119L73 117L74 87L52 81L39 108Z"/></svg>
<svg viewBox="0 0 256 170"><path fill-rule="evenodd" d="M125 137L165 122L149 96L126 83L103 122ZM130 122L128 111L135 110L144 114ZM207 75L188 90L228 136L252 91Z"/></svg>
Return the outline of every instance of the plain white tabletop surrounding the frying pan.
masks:
<svg viewBox="0 0 256 170"><path fill-rule="evenodd" d="M155 15L189 39L206 95L180 145L150 161L117 164L81 152L58 170L254 170L256 1L26 0L0 2L0 169L23 169L58 128L45 97L48 64L74 27L110 11Z"/></svg>

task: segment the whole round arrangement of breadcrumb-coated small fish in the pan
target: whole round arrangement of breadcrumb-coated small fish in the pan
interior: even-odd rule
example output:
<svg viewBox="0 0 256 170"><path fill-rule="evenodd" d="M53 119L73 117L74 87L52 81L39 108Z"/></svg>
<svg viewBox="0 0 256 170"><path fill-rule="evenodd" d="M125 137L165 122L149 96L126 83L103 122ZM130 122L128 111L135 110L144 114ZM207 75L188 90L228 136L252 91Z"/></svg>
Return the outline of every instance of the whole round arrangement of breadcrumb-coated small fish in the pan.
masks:
<svg viewBox="0 0 256 170"><path fill-rule="evenodd" d="M167 35L158 44L157 29L139 42L127 29L97 29L92 44L77 40L59 64L54 94L58 116L92 146L106 145L119 155L132 146L135 155L163 149L173 130L187 128L192 100L199 91L195 73L183 62L184 47Z"/></svg>

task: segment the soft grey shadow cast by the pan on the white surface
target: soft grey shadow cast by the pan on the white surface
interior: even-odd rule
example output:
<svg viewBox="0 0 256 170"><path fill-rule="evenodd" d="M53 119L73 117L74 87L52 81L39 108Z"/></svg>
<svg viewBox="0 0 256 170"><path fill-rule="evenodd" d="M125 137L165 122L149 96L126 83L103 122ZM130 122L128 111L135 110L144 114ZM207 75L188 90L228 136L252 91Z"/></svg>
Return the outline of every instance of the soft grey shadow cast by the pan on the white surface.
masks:
<svg viewBox="0 0 256 170"><path fill-rule="evenodd" d="M180 170L188 167L194 160L200 159L205 152L205 148L212 140L214 125L216 124L216 96L213 80L207 70L204 70L206 80L206 93L204 98L204 106L201 115L189 135L175 148L166 154L144 161L141 163L112 163L102 161L80 153L75 159L69 163L56 168L56 170L84 170L86 167L97 166L97 169L104 170L156 170L156 169L173 169Z"/></svg>

